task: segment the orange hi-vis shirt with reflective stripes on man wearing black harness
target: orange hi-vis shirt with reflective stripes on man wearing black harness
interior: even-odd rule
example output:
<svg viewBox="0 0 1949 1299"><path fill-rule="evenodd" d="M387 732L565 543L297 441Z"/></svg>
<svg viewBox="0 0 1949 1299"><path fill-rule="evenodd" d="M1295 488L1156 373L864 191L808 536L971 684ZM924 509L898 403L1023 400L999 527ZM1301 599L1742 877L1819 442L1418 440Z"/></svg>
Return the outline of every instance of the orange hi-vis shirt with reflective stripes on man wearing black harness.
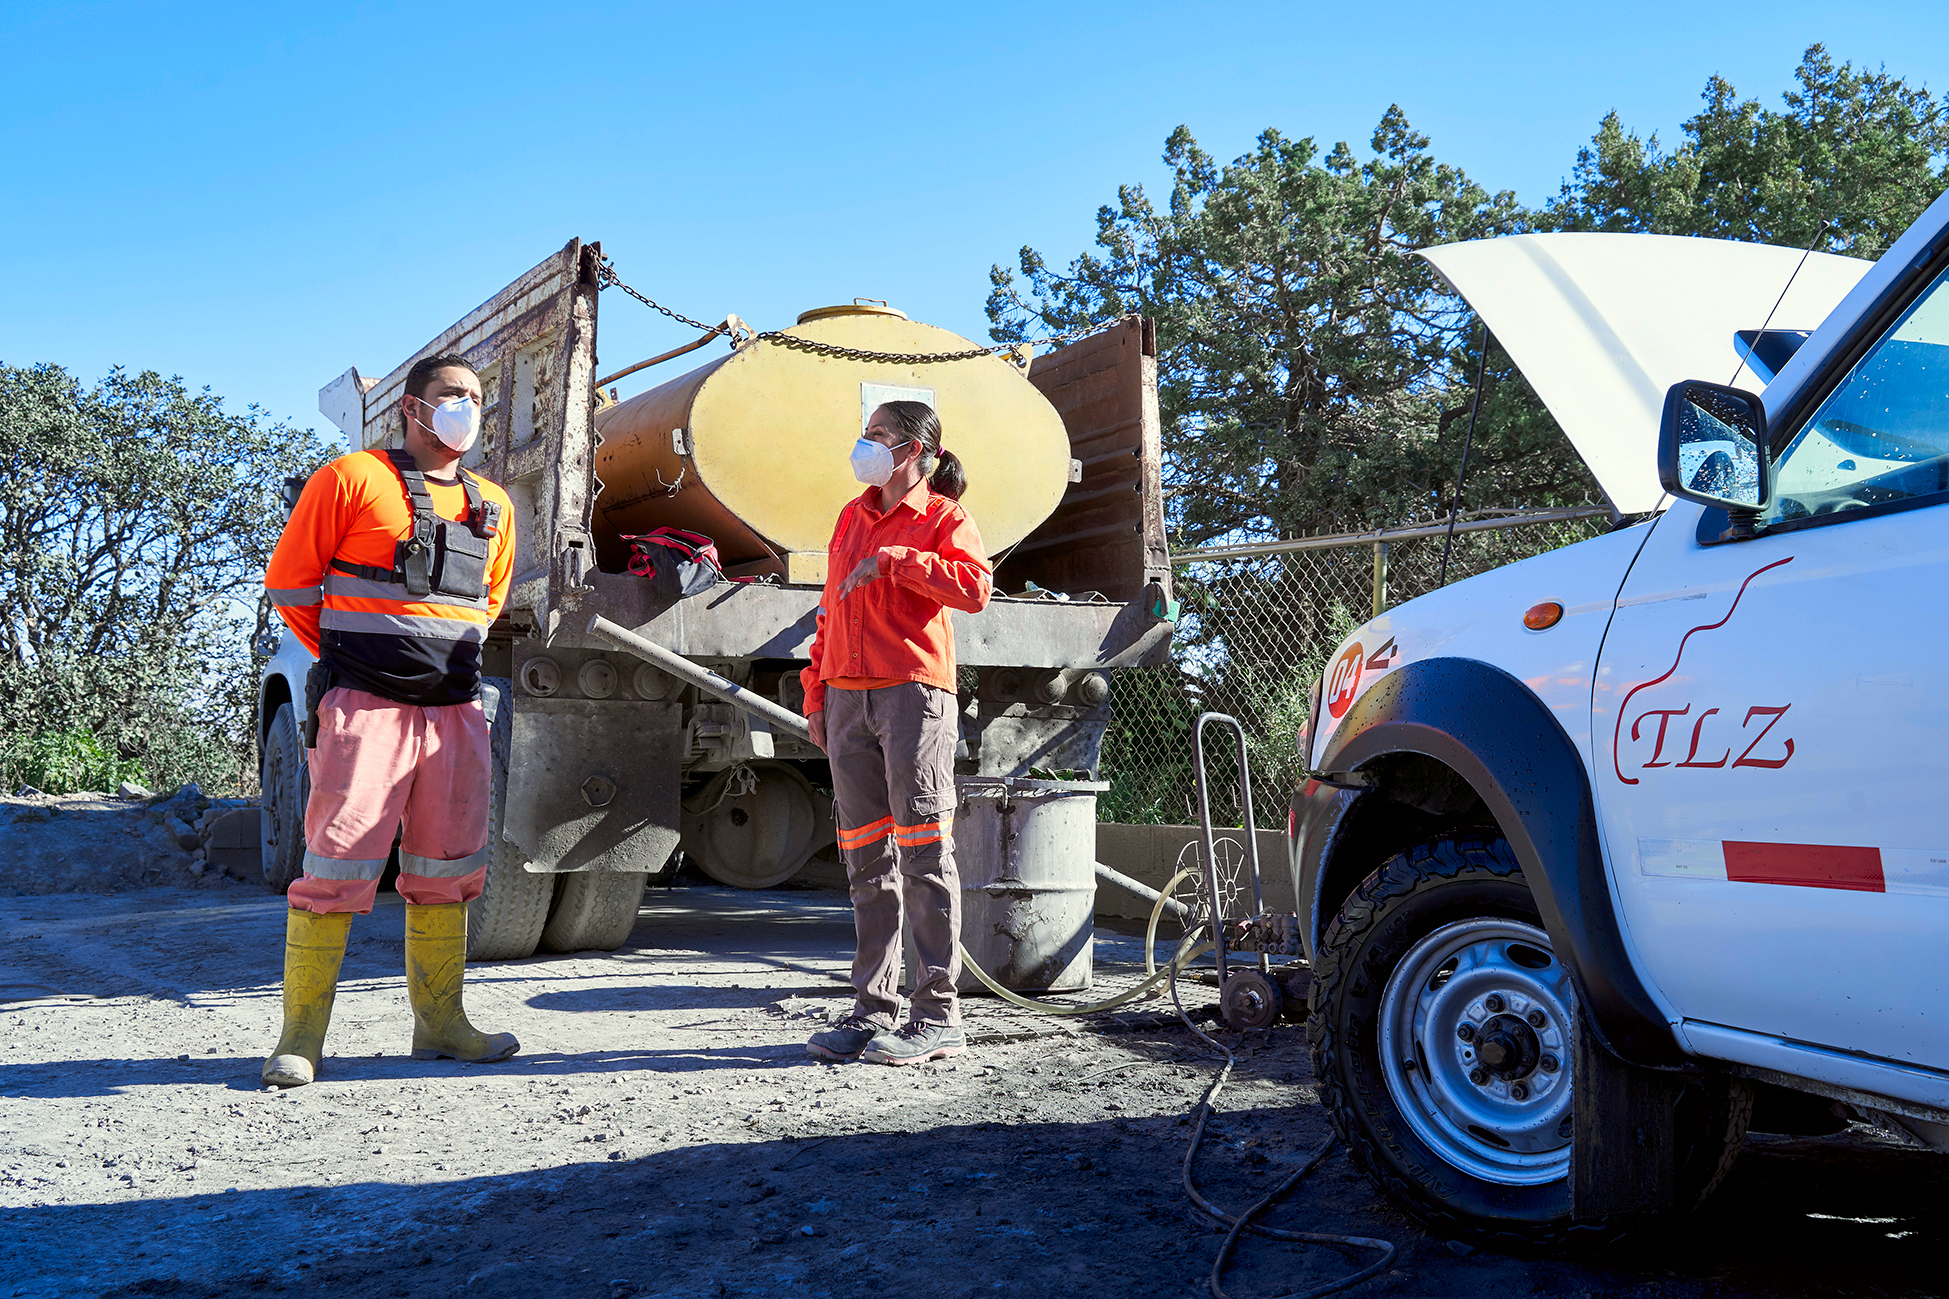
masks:
<svg viewBox="0 0 1949 1299"><path fill-rule="evenodd" d="M507 492L476 476L481 501L501 501L501 531L487 550L487 595L413 597L400 583L355 577L333 560L392 568L394 544L413 534L405 480L384 451L357 451L304 484L285 534L271 552L263 585L271 605L304 648L341 685L401 704L464 704L479 696L481 642L507 603L515 568L515 505ZM460 484L427 480L442 519L466 519Z"/></svg>

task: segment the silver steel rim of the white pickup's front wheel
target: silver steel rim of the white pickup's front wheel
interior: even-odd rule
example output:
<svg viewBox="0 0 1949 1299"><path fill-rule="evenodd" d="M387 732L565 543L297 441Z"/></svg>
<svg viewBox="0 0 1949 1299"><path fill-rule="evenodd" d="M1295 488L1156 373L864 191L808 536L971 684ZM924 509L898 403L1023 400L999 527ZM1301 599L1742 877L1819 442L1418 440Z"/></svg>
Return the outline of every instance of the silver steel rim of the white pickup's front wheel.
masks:
<svg viewBox="0 0 1949 1299"><path fill-rule="evenodd" d="M1388 1094L1462 1172L1503 1186L1561 1180L1571 1166L1573 1006L1569 971L1536 925L1444 925L1407 950L1382 993Z"/></svg>

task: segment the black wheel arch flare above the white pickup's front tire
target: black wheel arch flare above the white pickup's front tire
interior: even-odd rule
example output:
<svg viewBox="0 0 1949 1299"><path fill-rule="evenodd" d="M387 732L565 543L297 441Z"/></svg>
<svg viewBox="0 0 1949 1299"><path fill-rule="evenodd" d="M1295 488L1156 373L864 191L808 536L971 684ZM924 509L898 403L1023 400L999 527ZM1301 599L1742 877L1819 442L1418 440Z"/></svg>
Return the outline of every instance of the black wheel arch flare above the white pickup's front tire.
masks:
<svg viewBox="0 0 1949 1299"><path fill-rule="evenodd" d="M1407 663L1355 702L1319 768L1360 772L1370 786L1310 782L1296 800L1308 804L1296 811L1310 821L1302 841L1314 860L1294 870L1312 884L1302 905L1314 909L1316 946L1339 899L1386 860L1372 852L1493 825L1522 862L1604 1047L1633 1065L1696 1067L1625 950L1585 763L1526 685L1477 659Z"/></svg>

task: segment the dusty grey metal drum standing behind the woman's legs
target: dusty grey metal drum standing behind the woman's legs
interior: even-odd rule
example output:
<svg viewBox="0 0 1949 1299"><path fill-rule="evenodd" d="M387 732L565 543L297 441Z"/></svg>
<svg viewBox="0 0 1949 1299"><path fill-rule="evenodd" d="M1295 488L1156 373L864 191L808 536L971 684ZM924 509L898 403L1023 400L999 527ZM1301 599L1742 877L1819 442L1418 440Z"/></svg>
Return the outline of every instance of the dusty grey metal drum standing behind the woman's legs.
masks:
<svg viewBox="0 0 1949 1299"><path fill-rule="evenodd" d="M1101 780L957 776L961 944L1015 993L1088 989ZM906 969L916 967L912 944ZM967 969L961 991L980 991Z"/></svg>

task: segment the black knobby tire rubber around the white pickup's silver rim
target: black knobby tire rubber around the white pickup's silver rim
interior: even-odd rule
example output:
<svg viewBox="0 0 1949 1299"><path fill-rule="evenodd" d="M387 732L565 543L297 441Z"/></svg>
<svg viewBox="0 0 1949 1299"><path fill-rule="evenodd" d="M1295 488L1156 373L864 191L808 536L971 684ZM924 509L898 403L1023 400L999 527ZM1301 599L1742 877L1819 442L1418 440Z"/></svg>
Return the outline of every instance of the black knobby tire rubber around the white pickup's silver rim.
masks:
<svg viewBox="0 0 1949 1299"><path fill-rule="evenodd" d="M1510 1186L1456 1168L1417 1137L1388 1088L1380 1061L1388 979L1419 940L1470 919L1542 925L1522 866L1493 833L1417 845L1347 897L1321 936L1308 1001L1319 1100L1355 1164L1440 1237L1499 1250L1616 1239L1641 1219L1573 1221L1569 1170ZM1731 1168L1750 1112L1752 1090L1735 1079L1707 1075L1688 1086L1676 1112L1680 1209L1703 1200Z"/></svg>

